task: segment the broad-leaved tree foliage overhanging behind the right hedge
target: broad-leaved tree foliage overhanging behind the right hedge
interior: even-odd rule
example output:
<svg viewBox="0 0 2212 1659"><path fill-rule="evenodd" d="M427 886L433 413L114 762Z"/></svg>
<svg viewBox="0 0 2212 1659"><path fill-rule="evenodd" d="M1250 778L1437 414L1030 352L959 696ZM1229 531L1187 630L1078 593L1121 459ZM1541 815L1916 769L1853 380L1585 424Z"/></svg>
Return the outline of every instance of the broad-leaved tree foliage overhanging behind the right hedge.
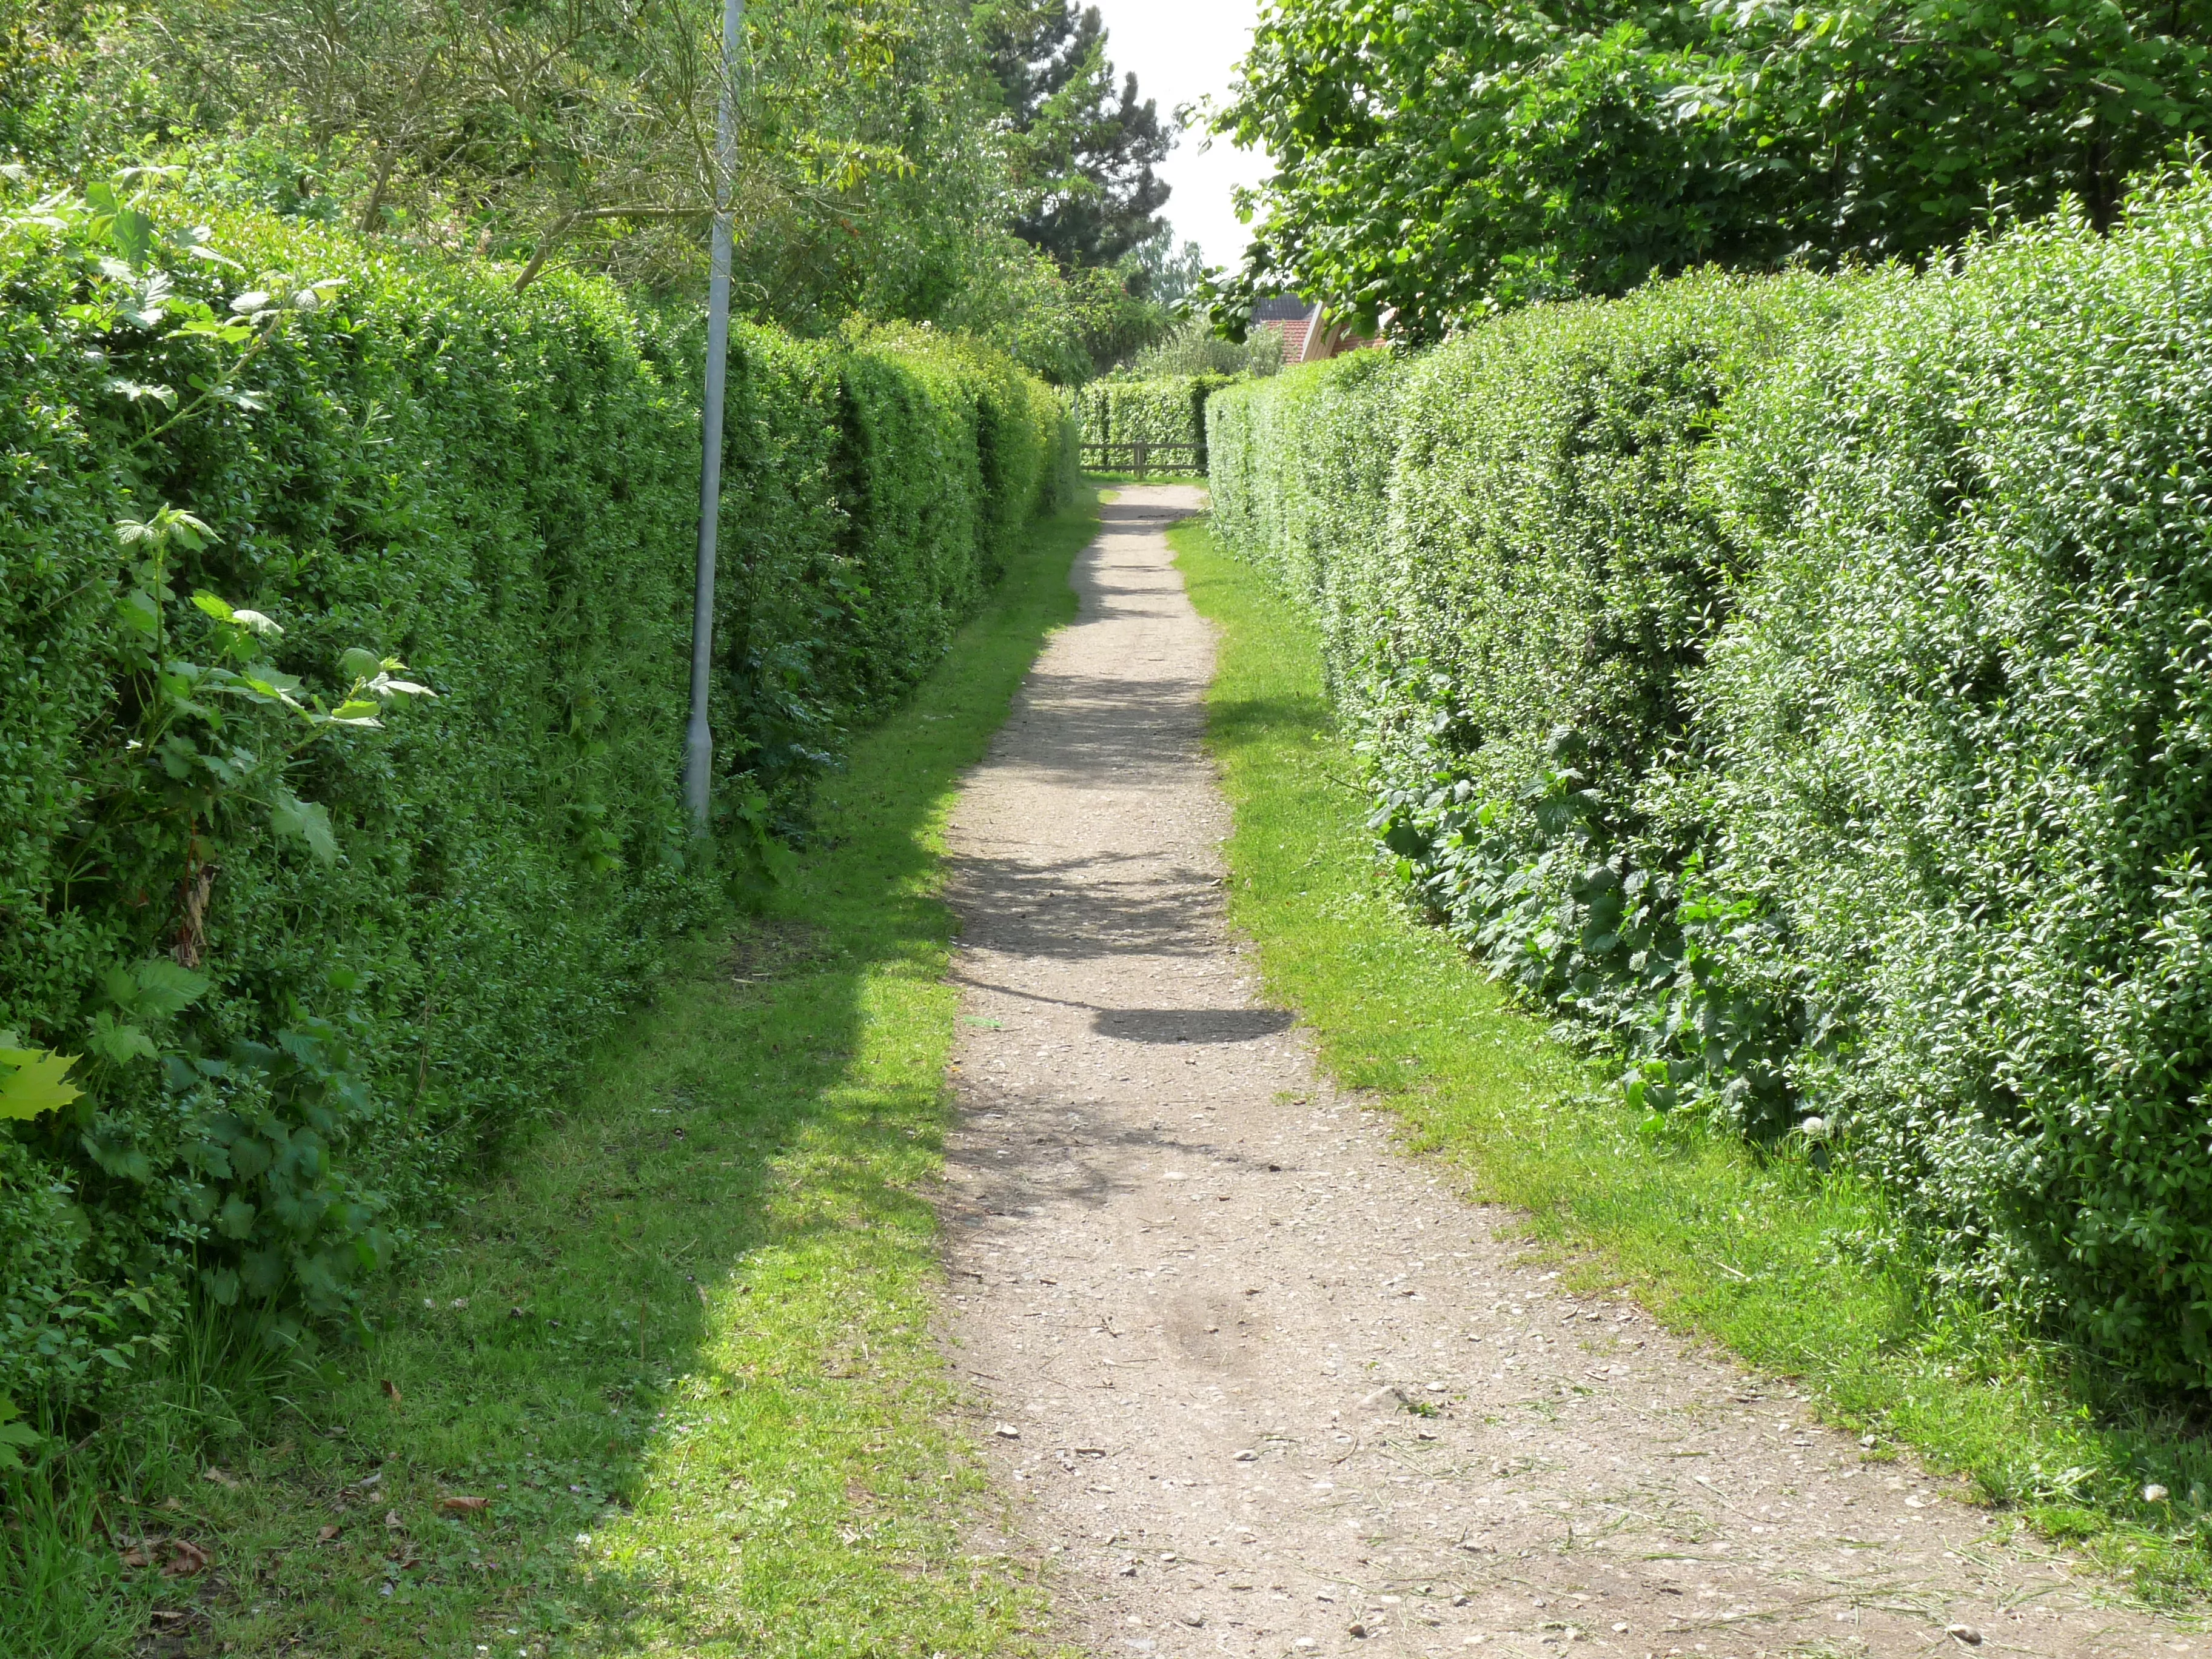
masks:
<svg viewBox="0 0 2212 1659"><path fill-rule="evenodd" d="M1705 261L1918 257L2088 201L2212 117L2183 4L1606 11L1290 0L1217 131L1274 175L1214 316L1305 292L1411 343Z"/></svg>

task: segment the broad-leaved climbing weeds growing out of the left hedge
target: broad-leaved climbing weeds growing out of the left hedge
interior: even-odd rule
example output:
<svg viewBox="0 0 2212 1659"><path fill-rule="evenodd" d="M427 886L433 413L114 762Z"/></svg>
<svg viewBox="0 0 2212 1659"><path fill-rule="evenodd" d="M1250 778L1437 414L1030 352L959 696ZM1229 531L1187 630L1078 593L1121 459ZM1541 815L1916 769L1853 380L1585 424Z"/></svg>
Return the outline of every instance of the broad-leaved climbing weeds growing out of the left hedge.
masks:
<svg viewBox="0 0 2212 1659"><path fill-rule="evenodd" d="M179 292L161 261L234 263L204 232L164 230L144 197L124 199L150 184L126 175L29 215L84 254L84 299L58 323L135 416L117 469L126 480L188 456L195 422L212 411L259 414L265 398L246 383L254 361L336 288L265 279L230 299ZM219 542L181 507L122 518L115 538L104 635L113 721L82 779L62 894L122 896L148 931L137 960L113 962L91 987L80 1053L0 1033L0 1117L40 1119L58 1148L139 1190L150 1203L135 1208L190 1254L204 1294L252 1307L272 1336L296 1336L301 1314L347 1312L354 1283L385 1256L380 1201L334 1161L378 1104L341 1022L294 1013L263 1042L234 1035L234 1009L215 1018L223 969L252 964L210 960L210 902L226 860L270 836L316 867L336 865L330 812L296 787L303 761L434 692L365 646L336 657L325 688L281 668L281 622L181 582L179 566ZM330 978L352 982L345 969ZM119 1365L119 1354L102 1356Z"/></svg>

